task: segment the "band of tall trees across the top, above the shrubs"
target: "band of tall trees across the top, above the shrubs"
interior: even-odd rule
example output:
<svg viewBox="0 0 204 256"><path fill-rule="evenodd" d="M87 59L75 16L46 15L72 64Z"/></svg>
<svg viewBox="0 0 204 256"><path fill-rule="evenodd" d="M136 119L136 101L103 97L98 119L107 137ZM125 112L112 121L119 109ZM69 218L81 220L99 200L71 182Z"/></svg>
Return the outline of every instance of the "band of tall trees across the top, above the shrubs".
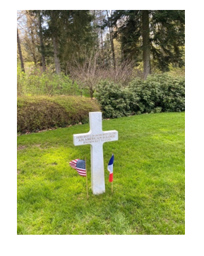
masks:
<svg viewBox="0 0 204 256"><path fill-rule="evenodd" d="M142 63L146 78L152 69L184 67L185 11L24 10L17 39L23 71L23 62L33 62L42 71L52 65L56 74L70 74L95 55L101 69Z"/></svg>

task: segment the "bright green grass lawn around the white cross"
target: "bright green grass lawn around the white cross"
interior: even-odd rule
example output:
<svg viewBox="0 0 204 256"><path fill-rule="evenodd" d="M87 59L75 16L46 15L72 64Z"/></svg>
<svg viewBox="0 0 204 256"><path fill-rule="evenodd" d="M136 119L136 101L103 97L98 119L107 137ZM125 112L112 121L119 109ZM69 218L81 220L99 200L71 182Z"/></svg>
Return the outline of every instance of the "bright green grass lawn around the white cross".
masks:
<svg viewBox="0 0 204 256"><path fill-rule="evenodd" d="M18 136L18 234L185 234L185 113L104 120L119 140L104 143L106 192L93 195L89 125ZM114 152L114 194L107 164ZM87 158L88 191L68 162Z"/></svg>

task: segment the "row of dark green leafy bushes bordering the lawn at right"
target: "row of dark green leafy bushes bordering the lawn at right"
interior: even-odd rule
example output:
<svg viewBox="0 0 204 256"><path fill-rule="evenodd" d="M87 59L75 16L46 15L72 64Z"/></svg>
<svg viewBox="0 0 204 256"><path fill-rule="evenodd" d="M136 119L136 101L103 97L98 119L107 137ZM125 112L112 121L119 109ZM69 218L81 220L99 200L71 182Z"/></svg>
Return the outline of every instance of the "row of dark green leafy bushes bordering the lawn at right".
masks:
<svg viewBox="0 0 204 256"><path fill-rule="evenodd" d="M146 80L134 79L126 87L103 81L97 85L96 98L104 118L185 111L185 78L152 74Z"/></svg>

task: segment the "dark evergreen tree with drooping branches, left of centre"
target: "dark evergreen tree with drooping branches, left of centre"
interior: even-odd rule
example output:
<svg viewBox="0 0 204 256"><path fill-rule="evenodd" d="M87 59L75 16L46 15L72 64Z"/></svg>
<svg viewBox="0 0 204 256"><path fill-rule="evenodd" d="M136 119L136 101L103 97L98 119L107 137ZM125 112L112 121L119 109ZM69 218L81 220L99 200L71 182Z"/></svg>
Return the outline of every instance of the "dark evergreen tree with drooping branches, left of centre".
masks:
<svg viewBox="0 0 204 256"><path fill-rule="evenodd" d="M47 17L48 28L44 35L52 38L56 73L67 69L73 55L81 58L83 48L88 52L95 43L92 33L92 16L85 10L50 10L43 11ZM68 70L66 70L68 72Z"/></svg>

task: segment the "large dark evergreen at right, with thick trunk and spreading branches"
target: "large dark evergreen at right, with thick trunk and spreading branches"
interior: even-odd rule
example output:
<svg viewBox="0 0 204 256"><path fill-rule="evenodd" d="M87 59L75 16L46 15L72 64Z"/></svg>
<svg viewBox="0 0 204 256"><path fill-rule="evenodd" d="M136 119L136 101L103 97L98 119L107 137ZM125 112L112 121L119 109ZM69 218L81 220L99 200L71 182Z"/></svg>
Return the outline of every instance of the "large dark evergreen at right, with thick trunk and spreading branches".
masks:
<svg viewBox="0 0 204 256"><path fill-rule="evenodd" d="M169 64L184 66L185 11L114 11L114 36L126 57L143 61L144 77L152 64L167 71Z"/></svg>

